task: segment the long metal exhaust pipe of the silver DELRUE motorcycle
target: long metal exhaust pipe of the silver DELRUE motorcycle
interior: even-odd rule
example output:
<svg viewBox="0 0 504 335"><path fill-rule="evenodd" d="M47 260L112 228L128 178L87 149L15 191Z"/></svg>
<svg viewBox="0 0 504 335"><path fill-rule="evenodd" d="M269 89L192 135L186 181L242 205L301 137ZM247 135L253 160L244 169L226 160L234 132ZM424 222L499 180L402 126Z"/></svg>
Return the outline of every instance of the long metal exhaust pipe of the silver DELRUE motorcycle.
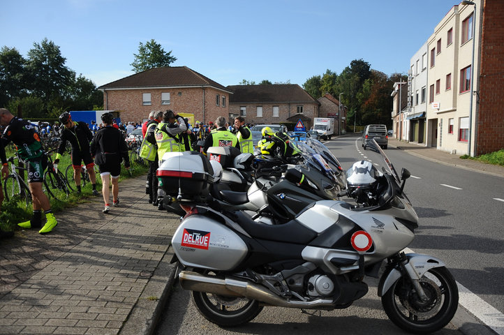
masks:
<svg viewBox="0 0 504 335"><path fill-rule="evenodd" d="M273 292L260 285L248 281L238 281L230 278L215 278L198 274L193 271L181 271L179 274L180 285L184 290L213 293L230 297L246 297L260 301L264 304L279 307L307 308L307 309L334 309L330 299L316 299L313 301L288 301L275 295Z"/></svg>

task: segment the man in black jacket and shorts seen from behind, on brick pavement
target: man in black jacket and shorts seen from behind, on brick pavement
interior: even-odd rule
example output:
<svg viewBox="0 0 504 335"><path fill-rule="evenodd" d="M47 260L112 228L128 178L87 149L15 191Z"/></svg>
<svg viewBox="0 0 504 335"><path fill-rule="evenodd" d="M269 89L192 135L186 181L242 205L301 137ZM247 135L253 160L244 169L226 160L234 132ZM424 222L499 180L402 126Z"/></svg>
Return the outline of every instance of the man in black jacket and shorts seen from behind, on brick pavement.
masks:
<svg viewBox="0 0 504 335"><path fill-rule="evenodd" d="M119 129L113 126L112 113L105 113L101 116L103 128L100 128L91 141L91 154L95 156L96 164L100 168L100 176L103 184L102 193L105 208L103 213L110 211L109 186L112 181L112 205L119 204L119 174L121 174L121 161L124 159L126 169L130 166L128 157L128 147ZM109 177L110 176L110 177Z"/></svg>

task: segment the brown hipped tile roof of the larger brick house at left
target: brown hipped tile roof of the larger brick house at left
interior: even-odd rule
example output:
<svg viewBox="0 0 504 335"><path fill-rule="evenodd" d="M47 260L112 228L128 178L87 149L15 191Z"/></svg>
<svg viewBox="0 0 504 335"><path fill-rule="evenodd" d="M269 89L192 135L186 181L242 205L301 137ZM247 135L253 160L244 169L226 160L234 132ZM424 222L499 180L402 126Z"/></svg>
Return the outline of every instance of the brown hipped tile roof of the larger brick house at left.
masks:
<svg viewBox="0 0 504 335"><path fill-rule="evenodd" d="M170 66L167 68L151 68L128 77L109 82L98 89L135 89L155 87L214 87L229 91L214 80L191 70L187 66Z"/></svg>

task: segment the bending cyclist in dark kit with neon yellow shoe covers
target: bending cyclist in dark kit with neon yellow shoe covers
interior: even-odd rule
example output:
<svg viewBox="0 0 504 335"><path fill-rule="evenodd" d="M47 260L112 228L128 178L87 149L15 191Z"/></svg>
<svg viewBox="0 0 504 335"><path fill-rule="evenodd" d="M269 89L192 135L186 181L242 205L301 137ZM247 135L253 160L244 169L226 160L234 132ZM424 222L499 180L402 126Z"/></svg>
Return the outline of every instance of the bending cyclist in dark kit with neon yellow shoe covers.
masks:
<svg viewBox="0 0 504 335"><path fill-rule="evenodd" d="M40 228L42 226L42 212L45 212L47 222L38 231L40 234L51 232L57 226L56 218L51 211L51 204L47 195L42 191L44 170L47 168L47 156L45 156L40 137L34 126L23 119L10 114L5 108L0 108L0 124L6 126L1 140L0 158L2 161L2 176L8 174L5 145L12 141L17 147L17 154L28 165L28 183L33 199L34 215L30 221L18 223L21 228ZM3 154L2 154L3 151Z"/></svg>

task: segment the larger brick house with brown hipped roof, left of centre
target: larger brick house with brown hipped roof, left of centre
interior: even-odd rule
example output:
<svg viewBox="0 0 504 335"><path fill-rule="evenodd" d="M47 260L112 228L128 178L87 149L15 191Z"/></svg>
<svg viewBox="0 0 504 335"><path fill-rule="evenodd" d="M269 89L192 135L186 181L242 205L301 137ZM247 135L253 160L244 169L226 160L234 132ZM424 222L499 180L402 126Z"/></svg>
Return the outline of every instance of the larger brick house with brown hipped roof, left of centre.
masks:
<svg viewBox="0 0 504 335"><path fill-rule="evenodd" d="M121 121L142 121L152 110L194 115L215 121L229 114L230 89L186 66L151 68L101 87L105 110L120 112Z"/></svg>

